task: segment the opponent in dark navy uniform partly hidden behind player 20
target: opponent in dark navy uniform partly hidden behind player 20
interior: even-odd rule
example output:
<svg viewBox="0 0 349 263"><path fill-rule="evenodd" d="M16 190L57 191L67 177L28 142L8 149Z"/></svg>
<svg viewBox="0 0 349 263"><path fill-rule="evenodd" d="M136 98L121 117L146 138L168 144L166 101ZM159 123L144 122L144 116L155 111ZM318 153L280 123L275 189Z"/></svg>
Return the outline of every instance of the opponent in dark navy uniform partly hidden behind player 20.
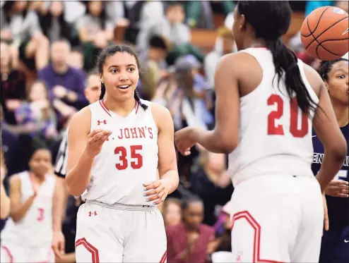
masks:
<svg viewBox="0 0 349 263"><path fill-rule="evenodd" d="M345 140L349 141L349 74L348 60L323 61L319 74L329 91L331 102ZM324 147L313 132L314 158L312 170L316 175L324 157ZM329 231L324 231L320 263L349 262L349 150L341 171L326 188Z"/></svg>

